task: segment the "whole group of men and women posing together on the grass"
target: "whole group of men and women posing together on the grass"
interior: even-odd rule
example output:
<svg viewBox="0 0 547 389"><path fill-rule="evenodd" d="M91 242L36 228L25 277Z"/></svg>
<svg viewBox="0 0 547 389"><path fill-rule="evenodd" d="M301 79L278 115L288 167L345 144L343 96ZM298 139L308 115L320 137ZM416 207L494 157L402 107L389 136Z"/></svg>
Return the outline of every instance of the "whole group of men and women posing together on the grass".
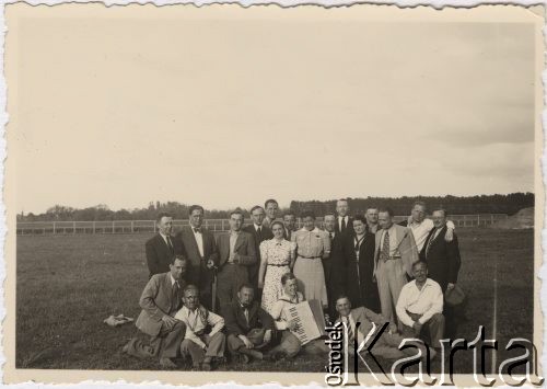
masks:
<svg viewBox="0 0 547 389"><path fill-rule="evenodd" d="M302 346L291 332L299 324L287 308L304 300L321 301L327 320L346 321L354 340L388 321L377 353L387 358L405 355L397 348L404 337L427 336L439 348L440 339L455 335L443 295L457 282L461 259L444 209L427 219L417 202L397 225L388 208L350 217L340 199L336 214L324 215L323 229L312 211L300 215L296 229L296 216L278 219L278 210L268 199L251 209L247 226L243 211L233 210L230 231L217 237L202 227L201 206L189 208L189 226L175 236L173 218L160 214L159 232L146 243L150 281L136 323L150 339L135 337L124 351L171 368L187 356L203 370L225 356L248 362L328 353L324 341Z"/></svg>

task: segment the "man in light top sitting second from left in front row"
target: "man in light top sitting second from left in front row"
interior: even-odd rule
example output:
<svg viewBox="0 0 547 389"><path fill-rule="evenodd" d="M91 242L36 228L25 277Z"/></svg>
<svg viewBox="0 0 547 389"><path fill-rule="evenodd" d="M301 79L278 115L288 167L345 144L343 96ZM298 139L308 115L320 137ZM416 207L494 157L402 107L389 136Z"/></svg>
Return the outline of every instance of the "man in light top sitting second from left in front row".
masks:
<svg viewBox="0 0 547 389"><path fill-rule="evenodd" d="M184 289L184 307L175 314L175 319L186 324L186 334L181 344L183 356L190 356L195 370L211 370L214 358L224 358L225 336L221 332L224 319L199 304L199 289L188 285Z"/></svg>

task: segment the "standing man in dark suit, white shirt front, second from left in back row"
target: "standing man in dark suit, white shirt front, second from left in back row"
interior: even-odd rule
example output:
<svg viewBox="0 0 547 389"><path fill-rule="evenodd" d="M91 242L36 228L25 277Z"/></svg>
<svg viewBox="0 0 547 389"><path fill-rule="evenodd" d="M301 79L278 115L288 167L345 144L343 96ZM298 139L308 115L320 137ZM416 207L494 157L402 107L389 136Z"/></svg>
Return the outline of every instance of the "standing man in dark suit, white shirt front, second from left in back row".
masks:
<svg viewBox="0 0 547 389"><path fill-rule="evenodd" d="M200 300L211 309L211 285L213 268L219 264L219 253L214 236L202 227L205 210L200 205L193 205L189 210L189 226L183 227L175 236L175 252L190 261L188 283L199 288Z"/></svg>

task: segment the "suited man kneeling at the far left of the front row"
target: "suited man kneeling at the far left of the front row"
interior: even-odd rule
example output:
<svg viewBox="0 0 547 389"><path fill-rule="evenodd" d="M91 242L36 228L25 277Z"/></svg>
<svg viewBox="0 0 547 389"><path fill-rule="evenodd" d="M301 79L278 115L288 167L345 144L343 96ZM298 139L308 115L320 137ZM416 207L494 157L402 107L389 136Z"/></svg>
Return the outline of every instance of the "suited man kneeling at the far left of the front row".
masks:
<svg viewBox="0 0 547 389"><path fill-rule="evenodd" d="M124 352L140 358L160 357L160 365L174 368L172 361L179 354L186 325L174 317L183 306L183 276L189 266L188 260L173 258L167 273L154 274L148 282L139 300L142 311L136 325L150 336L150 344L133 337L124 346Z"/></svg>

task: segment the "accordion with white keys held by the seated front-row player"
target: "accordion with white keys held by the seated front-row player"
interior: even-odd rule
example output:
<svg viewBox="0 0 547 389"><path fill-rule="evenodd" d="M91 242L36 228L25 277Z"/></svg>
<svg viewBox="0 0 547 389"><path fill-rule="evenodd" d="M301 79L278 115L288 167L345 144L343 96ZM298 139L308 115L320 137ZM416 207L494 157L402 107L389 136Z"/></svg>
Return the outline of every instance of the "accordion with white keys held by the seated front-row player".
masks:
<svg viewBox="0 0 547 389"><path fill-rule="evenodd" d="M302 345L325 335L325 317L319 300L302 301L286 308L284 313L288 320L299 324L291 333Z"/></svg>

